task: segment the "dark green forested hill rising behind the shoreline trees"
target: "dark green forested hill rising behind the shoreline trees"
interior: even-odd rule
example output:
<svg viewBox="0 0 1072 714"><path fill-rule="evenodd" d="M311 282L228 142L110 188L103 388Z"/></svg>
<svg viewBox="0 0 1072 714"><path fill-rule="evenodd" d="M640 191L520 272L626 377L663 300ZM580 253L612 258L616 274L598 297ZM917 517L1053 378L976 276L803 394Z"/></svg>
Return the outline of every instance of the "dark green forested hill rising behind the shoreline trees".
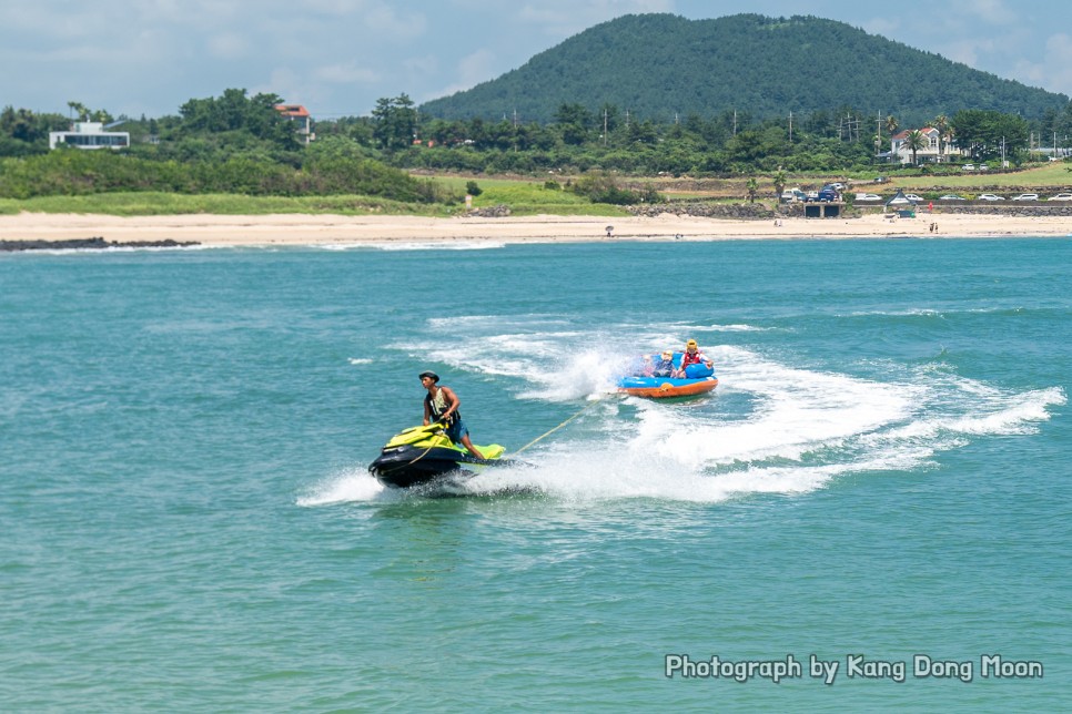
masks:
<svg viewBox="0 0 1072 714"><path fill-rule="evenodd" d="M516 110L520 121L549 122L560 105L576 103L593 111L613 105L665 122L692 112L710 116L736 110L767 119L851 108L912 123L961 109L1035 119L1068 102L1063 94L833 20L630 14L589 28L498 79L427 102L421 111L499 120Z"/></svg>

